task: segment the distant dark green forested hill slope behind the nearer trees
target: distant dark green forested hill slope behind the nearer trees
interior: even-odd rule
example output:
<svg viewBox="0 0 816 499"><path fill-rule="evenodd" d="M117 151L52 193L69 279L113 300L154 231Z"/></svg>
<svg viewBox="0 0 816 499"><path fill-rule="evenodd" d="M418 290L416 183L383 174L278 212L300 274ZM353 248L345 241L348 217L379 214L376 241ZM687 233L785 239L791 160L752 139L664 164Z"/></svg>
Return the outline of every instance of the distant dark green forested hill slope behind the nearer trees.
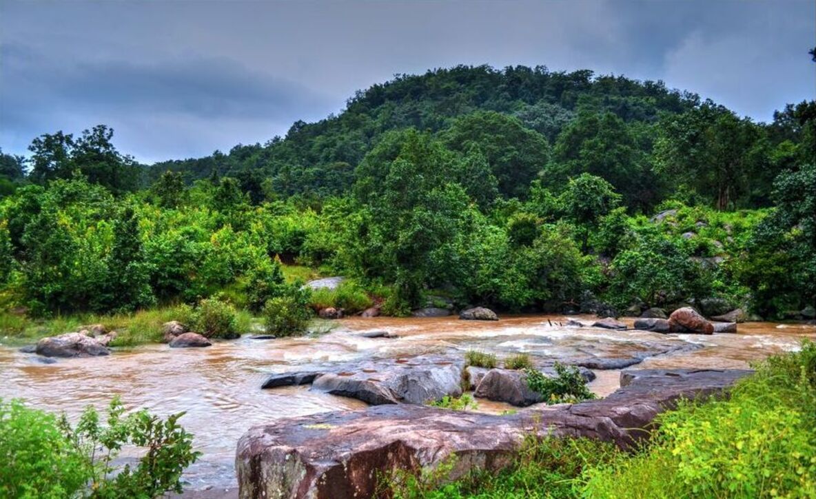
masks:
<svg viewBox="0 0 816 499"><path fill-rule="evenodd" d="M185 172L187 179L210 176L246 176L246 169L271 177L278 194L338 194L354 180L354 167L387 131L415 127L433 133L454 129L452 145L461 148L474 135L491 163L518 170L518 176L501 179L506 194L526 189L530 174L537 174L549 160L548 146L558 144L561 131L570 124L605 127L623 134L633 150L619 150L619 160L631 161L636 152L650 152L649 127L661 113L679 114L700 104L697 95L668 90L663 82L638 82L621 76L595 76L592 71L550 72L525 66L499 70L490 66L458 66L436 69L423 75L400 75L390 82L358 91L347 109L317 123L297 122L286 138L266 145L237 145L228 154L183 161L157 163L151 180L167 169ZM489 113L476 114L479 111ZM496 115L493 113L498 113ZM576 120L580 114L604 117ZM605 116L609 113L610 116ZM457 119L472 118L457 127ZM586 133L586 131L578 131ZM565 136L561 150L569 155ZM519 150L502 149L504 144ZM526 150L531 149L531 150ZM502 158L491 158L491 154ZM499 167L491 164L494 169ZM496 172L501 173L501 172Z"/></svg>

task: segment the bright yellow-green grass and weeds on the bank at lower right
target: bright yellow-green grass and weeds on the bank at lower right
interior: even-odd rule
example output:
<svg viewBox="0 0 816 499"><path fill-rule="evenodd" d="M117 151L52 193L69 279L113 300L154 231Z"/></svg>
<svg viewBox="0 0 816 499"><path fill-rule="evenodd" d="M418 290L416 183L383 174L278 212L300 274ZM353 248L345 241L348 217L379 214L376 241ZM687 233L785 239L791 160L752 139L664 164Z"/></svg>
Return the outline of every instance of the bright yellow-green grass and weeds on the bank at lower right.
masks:
<svg viewBox="0 0 816 499"><path fill-rule="evenodd" d="M685 401L634 452L527 437L501 471L450 481L455 460L397 471L394 497L816 497L816 343L754 366L729 399Z"/></svg>

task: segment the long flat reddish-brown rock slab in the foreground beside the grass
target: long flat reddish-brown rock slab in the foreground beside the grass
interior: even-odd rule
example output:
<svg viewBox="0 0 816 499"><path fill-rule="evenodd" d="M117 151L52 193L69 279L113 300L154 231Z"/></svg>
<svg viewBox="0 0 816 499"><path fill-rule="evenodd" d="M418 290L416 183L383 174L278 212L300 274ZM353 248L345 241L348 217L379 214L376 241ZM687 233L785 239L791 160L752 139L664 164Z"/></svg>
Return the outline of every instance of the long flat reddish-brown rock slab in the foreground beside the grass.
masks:
<svg viewBox="0 0 816 499"><path fill-rule="evenodd" d="M530 432L604 439L621 447L645 436L676 400L720 393L750 371L623 372L609 397L494 416L419 405L294 417L248 430L238 441L239 495L255 498L372 497L390 470L419 470L458 457L449 478L499 470Z"/></svg>

